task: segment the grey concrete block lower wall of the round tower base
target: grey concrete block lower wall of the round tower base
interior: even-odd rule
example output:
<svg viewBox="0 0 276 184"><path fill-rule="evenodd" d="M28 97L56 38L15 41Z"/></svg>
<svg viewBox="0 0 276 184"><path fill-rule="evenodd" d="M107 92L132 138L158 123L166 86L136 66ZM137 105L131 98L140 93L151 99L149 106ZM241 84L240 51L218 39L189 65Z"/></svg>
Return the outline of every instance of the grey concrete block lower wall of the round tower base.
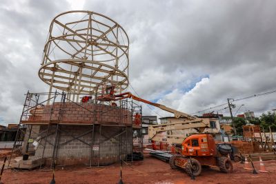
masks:
<svg viewBox="0 0 276 184"><path fill-rule="evenodd" d="M53 145L55 143L55 128L56 125L50 126L50 131L48 134L47 140L50 143L46 143L46 148L44 151L43 158L48 158L50 161L52 158ZM40 132L43 132L43 135L46 135L46 129L48 125L41 125ZM122 156L125 157L127 154L132 153L132 129L131 127L122 127L123 131L126 130L122 136L117 136L121 130L120 127L116 126L103 126L95 125L94 133L94 145L99 145L99 150L92 150L92 125L59 125L60 134L59 134L59 146L57 150L57 164L58 165L75 165L75 164L84 164L90 165L90 158L92 165L109 165L119 161L119 143L122 139ZM80 136L89 132L84 136ZM88 143L83 143L77 139L73 139L72 136L80 136L79 139ZM43 137L43 136L42 136ZM41 139L39 147L35 152L35 156L42 156L43 146L46 141L46 138ZM69 141L66 143L66 141ZM64 144L65 143L65 144ZM52 144L52 145L51 145ZM50 164L46 162L46 164Z"/></svg>

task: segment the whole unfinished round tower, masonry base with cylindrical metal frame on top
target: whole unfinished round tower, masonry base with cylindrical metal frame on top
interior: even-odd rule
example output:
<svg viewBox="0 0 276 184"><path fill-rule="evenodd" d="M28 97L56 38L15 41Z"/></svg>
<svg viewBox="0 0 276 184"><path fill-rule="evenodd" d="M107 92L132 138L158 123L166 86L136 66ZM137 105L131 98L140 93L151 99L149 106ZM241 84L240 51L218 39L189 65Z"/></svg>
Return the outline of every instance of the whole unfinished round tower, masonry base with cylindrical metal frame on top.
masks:
<svg viewBox="0 0 276 184"><path fill-rule="evenodd" d="M26 94L23 153L46 165L99 166L142 152L141 106L97 99L110 86L128 87L128 62L128 36L112 19L90 11L55 17L39 69L50 88Z"/></svg>

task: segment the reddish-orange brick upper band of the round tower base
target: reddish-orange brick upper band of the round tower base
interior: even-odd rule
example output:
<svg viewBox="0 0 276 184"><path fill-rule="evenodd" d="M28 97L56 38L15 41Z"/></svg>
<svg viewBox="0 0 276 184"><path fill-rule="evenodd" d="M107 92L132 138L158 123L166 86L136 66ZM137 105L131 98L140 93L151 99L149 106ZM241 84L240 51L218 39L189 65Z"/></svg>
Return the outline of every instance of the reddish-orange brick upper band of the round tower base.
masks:
<svg viewBox="0 0 276 184"><path fill-rule="evenodd" d="M66 123L66 124L119 124L130 125L132 114L129 110L111 105L91 103L54 103L30 111L22 123Z"/></svg>

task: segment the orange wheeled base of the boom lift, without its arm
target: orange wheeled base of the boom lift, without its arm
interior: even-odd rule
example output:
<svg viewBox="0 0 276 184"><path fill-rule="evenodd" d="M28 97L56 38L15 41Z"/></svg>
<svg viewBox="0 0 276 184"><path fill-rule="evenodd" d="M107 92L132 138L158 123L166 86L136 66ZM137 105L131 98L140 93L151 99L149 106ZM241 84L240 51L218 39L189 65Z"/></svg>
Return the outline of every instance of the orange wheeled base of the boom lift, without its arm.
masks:
<svg viewBox="0 0 276 184"><path fill-rule="evenodd" d="M201 173L201 165L219 167L225 173L233 172L233 164L228 158L230 150L219 152L210 134L188 136L181 144L181 150L177 152L179 154L174 154L169 160L172 169L181 168L193 176Z"/></svg>

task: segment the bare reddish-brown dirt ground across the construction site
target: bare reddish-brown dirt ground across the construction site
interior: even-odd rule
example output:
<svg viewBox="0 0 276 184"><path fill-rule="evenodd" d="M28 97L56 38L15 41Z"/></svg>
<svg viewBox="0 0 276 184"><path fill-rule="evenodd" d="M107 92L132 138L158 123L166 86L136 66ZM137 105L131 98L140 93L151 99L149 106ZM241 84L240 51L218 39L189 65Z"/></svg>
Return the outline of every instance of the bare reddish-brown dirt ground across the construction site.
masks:
<svg viewBox="0 0 276 184"><path fill-rule="evenodd" d="M259 169L259 162L255 167ZM185 172L172 170L168 163L145 155L144 161L132 165L123 165L124 183L158 183L158 184L188 184L188 183L276 183L276 161L264 161L266 170L270 173L253 174L244 170L241 163L234 163L234 172L224 174L217 169L203 168L200 176L195 181L190 179ZM55 172L56 183L118 183L119 164L107 167L87 168L57 167ZM47 168L42 170L18 171L4 170L3 183L50 183L52 171Z"/></svg>

